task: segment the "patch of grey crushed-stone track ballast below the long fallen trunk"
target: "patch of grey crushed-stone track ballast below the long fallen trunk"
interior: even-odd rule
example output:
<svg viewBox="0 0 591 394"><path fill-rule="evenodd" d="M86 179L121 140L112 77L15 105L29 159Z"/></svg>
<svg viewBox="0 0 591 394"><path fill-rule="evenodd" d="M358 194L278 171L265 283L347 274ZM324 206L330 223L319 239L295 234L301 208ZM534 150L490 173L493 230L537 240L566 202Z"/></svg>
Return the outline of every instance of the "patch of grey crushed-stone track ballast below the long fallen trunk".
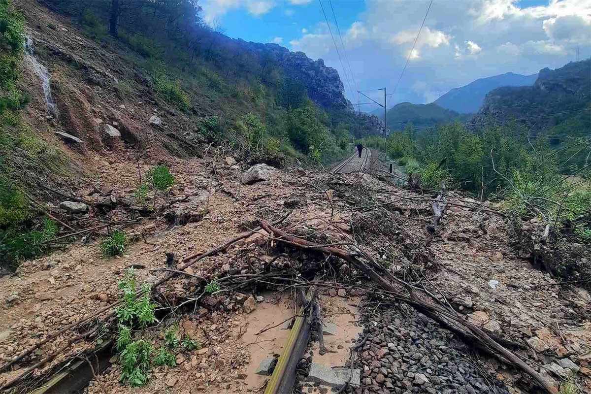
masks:
<svg viewBox="0 0 591 394"><path fill-rule="evenodd" d="M368 340L358 353L364 394L508 393L495 377L482 376L450 331L406 305L375 313L366 316Z"/></svg>

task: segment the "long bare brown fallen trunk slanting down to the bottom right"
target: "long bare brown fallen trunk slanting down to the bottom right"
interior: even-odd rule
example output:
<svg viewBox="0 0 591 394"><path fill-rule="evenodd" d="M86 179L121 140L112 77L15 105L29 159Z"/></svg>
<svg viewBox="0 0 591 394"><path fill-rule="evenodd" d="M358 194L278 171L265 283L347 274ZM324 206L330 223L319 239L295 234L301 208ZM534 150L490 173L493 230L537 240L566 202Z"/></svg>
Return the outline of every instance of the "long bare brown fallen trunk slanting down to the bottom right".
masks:
<svg viewBox="0 0 591 394"><path fill-rule="evenodd" d="M288 235L288 233L284 232L277 227L272 226L266 220L261 221L261 227L265 229L269 234L275 235L277 240L280 242L290 243L291 245L301 245L307 246L310 249L319 250L319 252L329 253L335 256L338 256L345 260L346 262L351 263L355 266L359 271L362 271L369 278L373 279L377 284L382 286L387 291L394 293L398 299L401 301L406 302L411 307L417 309L420 312L427 312L427 315L431 318L434 318L436 321L440 321L450 328L457 329L460 332L468 331L475 337L479 343L481 343L486 349L489 349L491 353L498 357L501 360L508 360L511 364L521 369L523 372L527 373L527 375L531 376L535 382L538 383L541 387L543 387L548 393L550 394L558 394L558 390L552 386L547 380L545 380L540 373L530 367L527 363L525 363L521 358L517 356L517 354L513 353L511 350L505 349L501 344L493 340L491 337L488 336L484 331L480 330L480 328L476 327L476 325L470 323L467 320L464 320L462 315L459 315L456 311L449 307L441 306L433 304L433 302L427 302L426 298L427 294L418 288L413 288L409 284L404 281L401 281L398 278L395 278L391 273L388 273L384 269L381 269L381 272L376 272L371 266L367 263L363 262L361 259L356 258L353 253L349 252L349 250L343 248L337 248L335 246L320 246L314 242L310 242L308 240L302 239L297 236ZM367 253L359 250L361 255L364 256L371 265L378 268L378 263L375 262L371 256ZM385 278L388 278L389 281ZM392 282L394 283L392 283ZM402 294L402 291L407 289L410 297L407 295ZM432 299L432 298L431 298ZM436 299L434 300L436 301ZM437 301L436 301L437 302Z"/></svg>

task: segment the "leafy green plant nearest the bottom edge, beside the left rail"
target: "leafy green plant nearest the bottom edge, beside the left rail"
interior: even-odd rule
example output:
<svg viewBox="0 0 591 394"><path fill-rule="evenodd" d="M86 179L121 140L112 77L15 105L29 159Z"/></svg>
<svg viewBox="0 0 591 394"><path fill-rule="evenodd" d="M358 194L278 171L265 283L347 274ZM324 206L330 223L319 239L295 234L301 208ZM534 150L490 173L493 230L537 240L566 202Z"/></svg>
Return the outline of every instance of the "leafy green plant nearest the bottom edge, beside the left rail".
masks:
<svg viewBox="0 0 591 394"><path fill-rule="evenodd" d="M121 352L122 372L119 380L132 387L143 386L148 382L150 372L150 354L152 345L146 340L129 343Z"/></svg>

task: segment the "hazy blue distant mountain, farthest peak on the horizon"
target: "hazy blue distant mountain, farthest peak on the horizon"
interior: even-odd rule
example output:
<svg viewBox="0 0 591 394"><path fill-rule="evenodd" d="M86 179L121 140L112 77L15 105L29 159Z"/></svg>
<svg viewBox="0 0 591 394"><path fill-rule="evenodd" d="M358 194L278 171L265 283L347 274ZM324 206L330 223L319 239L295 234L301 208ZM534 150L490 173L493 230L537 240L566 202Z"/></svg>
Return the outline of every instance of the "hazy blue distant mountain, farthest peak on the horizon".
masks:
<svg viewBox="0 0 591 394"><path fill-rule="evenodd" d="M505 73L477 79L465 86L450 90L434 103L459 113L476 113L480 109L486 93L491 90L501 86L531 86L536 78L537 74Z"/></svg>

